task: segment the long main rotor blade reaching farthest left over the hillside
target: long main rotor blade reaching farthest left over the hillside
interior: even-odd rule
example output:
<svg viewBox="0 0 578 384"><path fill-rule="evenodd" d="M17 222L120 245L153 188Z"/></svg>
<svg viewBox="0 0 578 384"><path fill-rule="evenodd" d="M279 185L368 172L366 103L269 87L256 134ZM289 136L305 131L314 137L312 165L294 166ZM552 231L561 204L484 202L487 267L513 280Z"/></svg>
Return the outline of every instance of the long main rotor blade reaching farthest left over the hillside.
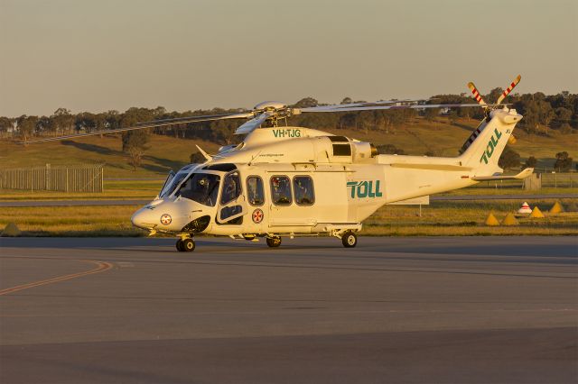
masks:
<svg viewBox="0 0 578 384"><path fill-rule="evenodd" d="M139 129L146 129L146 128L167 127L167 126L176 125L176 124L183 124L183 123L200 123L200 122L210 122L210 121L214 121L214 120L242 119L242 118L251 117L253 115L254 115L253 113L248 112L248 113L242 113L242 114L212 114L212 115L203 115L203 116L178 117L175 119L154 120L151 122L137 123L135 126L125 127L125 128L107 129L107 130L96 131L96 132L91 132L91 133L69 134L66 136L46 137L43 139L26 140L26 141L20 142L20 143L21 144L29 144L29 143L35 143L35 142L59 142L61 140L76 139L77 137L97 136L99 134L107 134L107 133L121 133L121 132L136 131Z"/></svg>

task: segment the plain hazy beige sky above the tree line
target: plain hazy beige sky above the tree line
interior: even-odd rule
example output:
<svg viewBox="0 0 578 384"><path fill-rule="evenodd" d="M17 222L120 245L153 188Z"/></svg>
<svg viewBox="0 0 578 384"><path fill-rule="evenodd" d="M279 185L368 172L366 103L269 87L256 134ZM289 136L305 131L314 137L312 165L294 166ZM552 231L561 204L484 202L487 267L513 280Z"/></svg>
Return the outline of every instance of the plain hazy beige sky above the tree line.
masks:
<svg viewBox="0 0 578 384"><path fill-rule="evenodd" d="M578 93L575 0L0 0L0 115Z"/></svg>

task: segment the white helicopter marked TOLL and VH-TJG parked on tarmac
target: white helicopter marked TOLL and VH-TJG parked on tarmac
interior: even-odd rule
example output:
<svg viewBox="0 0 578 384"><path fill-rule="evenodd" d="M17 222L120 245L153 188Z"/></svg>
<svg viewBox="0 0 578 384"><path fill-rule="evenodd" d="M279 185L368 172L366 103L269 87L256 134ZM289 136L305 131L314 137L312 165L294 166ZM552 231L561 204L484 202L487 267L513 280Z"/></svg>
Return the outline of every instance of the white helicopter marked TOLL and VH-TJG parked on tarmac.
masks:
<svg viewBox="0 0 578 384"><path fill-rule="evenodd" d="M515 176L498 176L503 172L499 157L522 119L516 110L499 105L519 80L518 76L494 105L486 104L470 83L478 105L410 105L390 100L291 108L264 102L247 113L169 119L111 131L251 118L236 131L247 135L239 144L221 147L215 155L198 147L206 161L171 173L159 195L137 210L131 221L150 234L175 233L178 251L193 251L197 233L252 241L265 237L274 248L282 237L329 235L339 238L344 247L355 247L361 223L380 206L485 180L526 178L533 172L524 169ZM302 113L480 105L486 117L454 158L378 154L369 142L278 126L280 120ZM102 133L107 132L94 134ZM41 141L50 140L55 139Z"/></svg>

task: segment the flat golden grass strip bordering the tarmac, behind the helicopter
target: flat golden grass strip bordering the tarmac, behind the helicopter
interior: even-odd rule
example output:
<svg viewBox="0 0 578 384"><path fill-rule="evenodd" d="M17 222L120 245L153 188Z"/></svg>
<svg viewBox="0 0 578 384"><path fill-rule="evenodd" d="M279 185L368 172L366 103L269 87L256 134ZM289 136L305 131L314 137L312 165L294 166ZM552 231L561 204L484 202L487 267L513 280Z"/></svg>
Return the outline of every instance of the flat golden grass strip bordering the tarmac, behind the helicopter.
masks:
<svg viewBox="0 0 578 384"><path fill-rule="evenodd" d="M543 219L519 215L515 227L489 227L489 212L501 221L508 212L516 212L519 202L494 200L488 202L433 202L422 207L383 206L364 222L362 235L576 235L578 234L578 202L562 199L566 212L550 215L547 211L555 200L535 204L545 213ZM68 207L5 207L0 211L0 228L15 223L27 236L144 236L130 223L130 216L139 206L68 206Z"/></svg>

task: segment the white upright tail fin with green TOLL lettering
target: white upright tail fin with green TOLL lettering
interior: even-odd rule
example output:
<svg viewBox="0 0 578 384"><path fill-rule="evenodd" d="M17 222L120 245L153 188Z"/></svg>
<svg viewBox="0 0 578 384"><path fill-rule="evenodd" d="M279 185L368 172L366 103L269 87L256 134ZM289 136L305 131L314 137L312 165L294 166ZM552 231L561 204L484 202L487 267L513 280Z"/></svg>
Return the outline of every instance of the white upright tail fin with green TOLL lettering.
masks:
<svg viewBox="0 0 578 384"><path fill-rule="evenodd" d="M470 167L472 176L483 177L501 173L498 160L517 122L522 119L515 109L496 109L489 113L462 148L460 161Z"/></svg>

